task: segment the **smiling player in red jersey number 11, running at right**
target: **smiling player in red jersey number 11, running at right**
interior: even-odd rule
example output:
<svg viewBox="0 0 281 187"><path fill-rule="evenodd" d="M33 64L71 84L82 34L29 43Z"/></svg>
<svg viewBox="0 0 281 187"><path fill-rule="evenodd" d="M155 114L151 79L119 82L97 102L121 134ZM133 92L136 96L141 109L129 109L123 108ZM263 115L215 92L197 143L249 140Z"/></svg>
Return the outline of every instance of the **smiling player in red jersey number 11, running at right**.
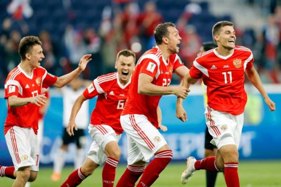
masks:
<svg viewBox="0 0 281 187"><path fill-rule="evenodd" d="M213 26L213 38L218 47L204 52L193 62L189 73L183 79L186 88L202 78L207 86L208 103L205 110L206 125L213 137L211 143L217 146L216 156L196 161L187 159L187 168L182 173L181 182L185 184L196 170L224 171L228 187L239 186L238 147L244 120L244 107L247 94L244 89L246 75L259 90L270 111L275 110L275 103L265 92L257 71L253 67L253 54L243 46L235 46L233 23L217 22ZM182 99L176 105L177 117L186 121Z"/></svg>

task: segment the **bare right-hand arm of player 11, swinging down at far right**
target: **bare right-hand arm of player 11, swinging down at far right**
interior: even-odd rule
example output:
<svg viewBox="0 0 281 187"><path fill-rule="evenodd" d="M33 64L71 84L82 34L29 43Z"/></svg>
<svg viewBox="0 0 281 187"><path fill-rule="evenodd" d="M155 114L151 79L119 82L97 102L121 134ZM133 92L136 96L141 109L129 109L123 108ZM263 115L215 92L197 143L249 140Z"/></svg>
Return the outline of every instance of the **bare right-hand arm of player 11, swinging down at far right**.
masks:
<svg viewBox="0 0 281 187"><path fill-rule="evenodd" d="M263 84L259 78L258 72L252 67L251 69L245 70L246 75L250 82L259 90L259 93L263 96L264 102L269 106L270 111L275 111L275 103L269 98L265 92Z"/></svg>

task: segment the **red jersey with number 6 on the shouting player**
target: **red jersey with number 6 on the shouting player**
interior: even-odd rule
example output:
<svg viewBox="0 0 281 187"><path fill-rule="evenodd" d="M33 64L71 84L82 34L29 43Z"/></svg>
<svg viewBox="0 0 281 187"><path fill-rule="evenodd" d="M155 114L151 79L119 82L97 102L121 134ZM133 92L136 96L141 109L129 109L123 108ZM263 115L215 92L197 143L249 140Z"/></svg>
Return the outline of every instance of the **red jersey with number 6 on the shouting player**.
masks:
<svg viewBox="0 0 281 187"><path fill-rule="evenodd" d="M96 107L91 113L92 125L106 124L113 128L116 134L121 134L123 129L120 124L120 114L128 97L129 85L119 82L118 73L110 73L97 77L84 91L86 99L96 95Z"/></svg>

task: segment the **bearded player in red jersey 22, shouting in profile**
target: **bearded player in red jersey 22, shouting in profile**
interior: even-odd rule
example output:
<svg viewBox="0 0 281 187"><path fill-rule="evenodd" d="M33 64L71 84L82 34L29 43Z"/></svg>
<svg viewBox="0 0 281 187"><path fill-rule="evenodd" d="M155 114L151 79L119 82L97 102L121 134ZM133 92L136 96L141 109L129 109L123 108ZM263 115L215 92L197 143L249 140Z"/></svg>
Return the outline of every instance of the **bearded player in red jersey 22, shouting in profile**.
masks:
<svg viewBox="0 0 281 187"><path fill-rule="evenodd" d="M172 151L158 129L157 108L162 95L185 98L187 88L169 86L172 73L183 77L188 69L182 64L178 44L181 37L173 23L155 28L156 46L146 51L132 74L128 99L121 113L121 126L128 137L128 166L117 187L151 186L172 159ZM155 156L146 166L145 162Z"/></svg>

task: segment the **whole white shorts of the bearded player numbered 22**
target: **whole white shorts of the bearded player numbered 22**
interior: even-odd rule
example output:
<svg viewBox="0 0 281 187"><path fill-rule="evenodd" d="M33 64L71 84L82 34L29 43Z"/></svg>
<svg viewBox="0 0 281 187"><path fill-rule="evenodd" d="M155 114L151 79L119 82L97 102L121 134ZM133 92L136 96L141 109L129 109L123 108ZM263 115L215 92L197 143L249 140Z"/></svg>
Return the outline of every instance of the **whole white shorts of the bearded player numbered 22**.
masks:
<svg viewBox="0 0 281 187"><path fill-rule="evenodd" d="M128 165L149 159L167 144L160 132L140 114L120 116L121 126L128 138Z"/></svg>

